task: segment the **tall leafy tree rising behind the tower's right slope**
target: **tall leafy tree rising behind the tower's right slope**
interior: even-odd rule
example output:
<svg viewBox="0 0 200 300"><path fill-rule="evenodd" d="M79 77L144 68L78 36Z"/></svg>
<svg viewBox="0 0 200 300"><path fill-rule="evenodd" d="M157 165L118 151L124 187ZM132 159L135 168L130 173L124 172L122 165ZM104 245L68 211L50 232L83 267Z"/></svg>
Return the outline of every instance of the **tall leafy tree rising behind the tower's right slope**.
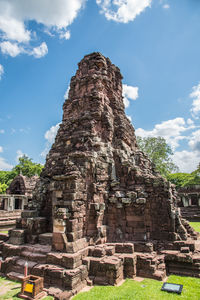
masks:
<svg viewBox="0 0 200 300"><path fill-rule="evenodd" d="M178 167L173 163L171 147L162 137L137 137L139 148L148 155L150 160L155 164L156 170L161 175L167 176L172 172L177 172Z"/></svg>

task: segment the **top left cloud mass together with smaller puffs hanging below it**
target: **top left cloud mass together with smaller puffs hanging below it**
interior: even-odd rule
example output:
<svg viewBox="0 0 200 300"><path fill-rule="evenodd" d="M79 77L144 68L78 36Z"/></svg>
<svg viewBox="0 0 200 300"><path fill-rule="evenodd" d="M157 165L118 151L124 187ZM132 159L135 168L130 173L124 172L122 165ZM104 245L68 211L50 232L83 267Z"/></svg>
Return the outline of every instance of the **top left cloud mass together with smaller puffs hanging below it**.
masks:
<svg viewBox="0 0 200 300"><path fill-rule="evenodd" d="M3 54L15 57L20 53L36 58L47 54L46 43L33 47L37 33L29 24L35 21L44 33L70 38L68 27L73 23L86 0L0 0L0 41ZM38 31L39 32L39 31Z"/></svg>

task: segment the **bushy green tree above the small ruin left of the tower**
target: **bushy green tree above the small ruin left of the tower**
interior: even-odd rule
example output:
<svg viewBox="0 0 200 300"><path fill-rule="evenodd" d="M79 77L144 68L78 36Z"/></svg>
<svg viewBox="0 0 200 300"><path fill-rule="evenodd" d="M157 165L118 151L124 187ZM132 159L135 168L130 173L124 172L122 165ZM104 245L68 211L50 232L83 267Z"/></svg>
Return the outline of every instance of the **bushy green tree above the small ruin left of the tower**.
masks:
<svg viewBox="0 0 200 300"><path fill-rule="evenodd" d="M16 175L22 174L24 176L32 177L40 175L43 165L32 162L32 159L26 155L19 158L19 163L12 169Z"/></svg>

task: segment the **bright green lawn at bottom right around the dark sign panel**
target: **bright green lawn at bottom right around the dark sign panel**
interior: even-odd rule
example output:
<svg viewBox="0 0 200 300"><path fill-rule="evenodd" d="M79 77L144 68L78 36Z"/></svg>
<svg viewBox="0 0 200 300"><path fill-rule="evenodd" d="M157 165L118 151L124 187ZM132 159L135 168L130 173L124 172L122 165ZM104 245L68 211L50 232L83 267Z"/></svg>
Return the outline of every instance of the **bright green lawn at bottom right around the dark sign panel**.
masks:
<svg viewBox="0 0 200 300"><path fill-rule="evenodd" d="M127 279L121 286L96 286L89 292L79 293L73 300L199 300L200 279L171 275L167 282L183 284L181 295L162 292L163 282L144 279L137 282Z"/></svg>

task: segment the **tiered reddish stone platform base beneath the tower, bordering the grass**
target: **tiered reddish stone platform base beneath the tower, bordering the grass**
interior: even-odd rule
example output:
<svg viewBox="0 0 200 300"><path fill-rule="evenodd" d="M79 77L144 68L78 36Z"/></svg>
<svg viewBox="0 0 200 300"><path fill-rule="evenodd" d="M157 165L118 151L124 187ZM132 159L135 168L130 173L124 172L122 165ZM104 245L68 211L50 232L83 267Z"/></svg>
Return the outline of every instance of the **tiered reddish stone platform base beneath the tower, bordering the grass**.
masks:
<svg viewBox="0 0 200 300"><path fill-rule="evenodd" d="M200 241L129 242L90 245L75 253L52 251L50 245L0 243L4 275L44 278L48 294L70 299L84 286L117 285L125 278L165 280L168 274L200 277Z"/></svg>

